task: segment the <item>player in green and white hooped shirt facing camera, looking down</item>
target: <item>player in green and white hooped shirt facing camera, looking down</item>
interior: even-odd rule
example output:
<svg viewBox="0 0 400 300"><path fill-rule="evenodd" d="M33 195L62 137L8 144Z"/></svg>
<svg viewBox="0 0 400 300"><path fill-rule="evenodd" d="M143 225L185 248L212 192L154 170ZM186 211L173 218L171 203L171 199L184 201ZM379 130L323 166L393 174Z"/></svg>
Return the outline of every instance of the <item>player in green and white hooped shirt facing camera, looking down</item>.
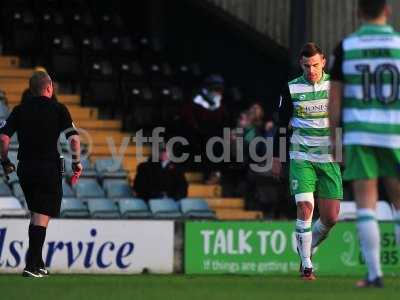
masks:
<svg viewBox="0 0 400 300"><path fill-rule="evenodd" d="M324 72L325 62L316 44L306 44L300 53L303 74L289 82L279 107L279 127L292 129L289 182L297 205L297 249L301 277L305 280L315 279L311 253L335 225L343 198L341 171L333 160L330 142L330 76ZM274 176L281 173L278 139L279 133L274 143ZM319 201L320 219L311 228L314 193Z"/></svg>

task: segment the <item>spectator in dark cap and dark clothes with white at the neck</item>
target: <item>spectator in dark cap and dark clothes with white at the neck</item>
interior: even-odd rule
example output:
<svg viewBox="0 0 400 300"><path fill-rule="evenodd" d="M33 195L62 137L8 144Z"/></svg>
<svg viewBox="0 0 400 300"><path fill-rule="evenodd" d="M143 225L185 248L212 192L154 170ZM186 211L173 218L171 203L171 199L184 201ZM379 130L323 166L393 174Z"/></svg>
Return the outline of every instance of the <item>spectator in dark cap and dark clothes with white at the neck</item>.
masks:
<svg viewBox="0 0 400 300"><path fill-rule="evenodd" d="M203 87L183 107L183 136L190 143L190 154L201 155L202 171L207 184L216 184L220 178L219 165L209 161L206 155L207 141L215 136L222 137L226 124L226 110L223 105L224 79L220 75L211 75L204 81ZM214 153L220 156L222 147L216 144Z"/></svg>

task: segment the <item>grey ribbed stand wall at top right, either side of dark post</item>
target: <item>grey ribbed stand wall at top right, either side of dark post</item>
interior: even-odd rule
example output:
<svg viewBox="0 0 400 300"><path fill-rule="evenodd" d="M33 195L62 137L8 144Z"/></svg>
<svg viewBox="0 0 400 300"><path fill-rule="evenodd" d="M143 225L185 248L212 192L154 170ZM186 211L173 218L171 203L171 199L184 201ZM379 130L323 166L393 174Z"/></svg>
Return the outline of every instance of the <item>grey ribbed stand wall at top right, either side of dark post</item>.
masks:
<svg viewBox="0 0 400 300"><path fill-rule="evenodd" d="M257 31L290 48L290 0L209 0ZM307 0L312 21L307 36L331 53L337 43L360 24L357 0ZM400 30L400 1L393 6L391 24Z"/></svg>

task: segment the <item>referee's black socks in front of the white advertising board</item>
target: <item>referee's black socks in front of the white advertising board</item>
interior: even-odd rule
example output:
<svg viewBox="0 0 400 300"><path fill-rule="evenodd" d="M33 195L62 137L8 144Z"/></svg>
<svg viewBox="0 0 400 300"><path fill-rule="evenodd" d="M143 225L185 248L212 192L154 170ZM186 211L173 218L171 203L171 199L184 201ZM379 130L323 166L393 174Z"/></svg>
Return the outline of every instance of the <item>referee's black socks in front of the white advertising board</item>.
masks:
<svg viewBox="0 0 400 300"><path fill-rule="evenodd" d="M29 249L26 256L26 269L36 270L43 268L42 249L46 239L46 227L29 225Z"/></svg>

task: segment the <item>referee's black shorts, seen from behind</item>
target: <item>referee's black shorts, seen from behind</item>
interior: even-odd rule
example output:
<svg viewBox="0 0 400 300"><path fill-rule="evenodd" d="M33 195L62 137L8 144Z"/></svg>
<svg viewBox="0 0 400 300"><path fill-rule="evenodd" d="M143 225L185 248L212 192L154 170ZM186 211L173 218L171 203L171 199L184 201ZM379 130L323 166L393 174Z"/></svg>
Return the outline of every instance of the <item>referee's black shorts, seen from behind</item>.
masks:
<svg viewBox="0 0 400 300"><path fill-rule="evenodd" d="M59 217L62 199L60 163L20 161L17 174L31 212Z"/></svg>

